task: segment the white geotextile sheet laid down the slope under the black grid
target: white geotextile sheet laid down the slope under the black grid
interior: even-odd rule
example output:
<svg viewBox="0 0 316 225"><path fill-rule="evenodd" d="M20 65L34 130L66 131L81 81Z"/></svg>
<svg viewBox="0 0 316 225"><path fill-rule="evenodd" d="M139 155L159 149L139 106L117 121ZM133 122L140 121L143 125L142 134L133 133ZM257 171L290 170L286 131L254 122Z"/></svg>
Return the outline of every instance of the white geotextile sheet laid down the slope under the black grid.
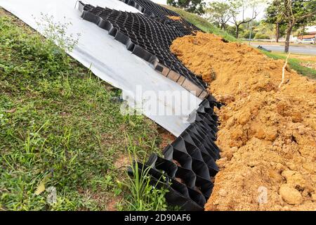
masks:
<svg viewBox="0 0 316 225"><path fill-rule="evenodd" d="M41 13L53 15L54 22L71 22L72 25L67 30L67 34L80 33L81 37L70 56L86 68L91 68L91 71L100 79L121 89L129 105L143 104L144 115L175 136L179 136L189 125L186 122L187 117L198 107L201 100L176 82L154 71L145 60L127 51L126 46L114 40L106 30L82 20L81 13L74 7L76 2L77 0L0 0L0 6L35 30L39 30L39 27L34 18L41 18ZM119 0L83 2L93 6L140 13L136 8ZM175 96L180 93L187 99L174 100L175 98L169 98L172 96L171 93L176 93ZM157 106L153 107L153 102ZM140 108L139 105L136 108Z"/></svg>

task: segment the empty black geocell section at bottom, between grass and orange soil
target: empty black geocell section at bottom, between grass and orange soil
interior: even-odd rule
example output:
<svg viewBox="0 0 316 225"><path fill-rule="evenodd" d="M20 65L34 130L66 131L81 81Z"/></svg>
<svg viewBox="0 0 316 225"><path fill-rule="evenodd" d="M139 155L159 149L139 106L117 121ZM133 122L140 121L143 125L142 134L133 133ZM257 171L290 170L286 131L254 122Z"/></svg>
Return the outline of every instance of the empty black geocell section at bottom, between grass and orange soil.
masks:
<svg viewBox="0 0 316 225"><path fill-rule="evenodd" d="M187 211L204 210L213 190L211 178L218 172L215 161L220 158L220 150L214 143L218 117L213 108L220 106L209 96L192 115L194 122L164 148L164 158L152 154L145 165L135 162L140 170L149 169L152 185L169 190L166 193L169 205ZM129 174L133 175L132 169Z"/></svg>

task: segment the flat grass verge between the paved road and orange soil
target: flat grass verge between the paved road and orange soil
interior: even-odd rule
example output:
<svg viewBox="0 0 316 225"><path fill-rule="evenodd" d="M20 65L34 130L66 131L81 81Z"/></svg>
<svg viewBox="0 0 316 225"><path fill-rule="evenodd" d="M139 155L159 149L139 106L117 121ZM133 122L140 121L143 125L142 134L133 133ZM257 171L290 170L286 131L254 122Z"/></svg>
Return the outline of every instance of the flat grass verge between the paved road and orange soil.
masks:
<svg viewBox="0 0 316 225"><path fill-rule="evenodd" d="M266 56L274 59L282 59L285 60L287 58L286 53L271 53L267 51L262 51ZM303 63L303 60L299 60L298 58L291 58L289 57L288 63L291 69L296 70L299 74L310 77L312 79L316 79L316 70L313 70L312 68L307 68L303 65L300 65L300 63Z"/></svg>

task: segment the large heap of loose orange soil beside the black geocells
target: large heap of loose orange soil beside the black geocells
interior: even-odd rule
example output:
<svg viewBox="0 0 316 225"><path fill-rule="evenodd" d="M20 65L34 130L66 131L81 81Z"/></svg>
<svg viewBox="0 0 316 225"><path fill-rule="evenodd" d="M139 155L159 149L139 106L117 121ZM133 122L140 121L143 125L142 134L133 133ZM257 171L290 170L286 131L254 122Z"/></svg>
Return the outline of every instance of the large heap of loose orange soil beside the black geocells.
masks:
<svg viewBox="0 0 316 225"><path fill-rule="evenodd" d="M316 210L316 82L246 44L197 33L171 51L226 103L206 210Z"/></svg>

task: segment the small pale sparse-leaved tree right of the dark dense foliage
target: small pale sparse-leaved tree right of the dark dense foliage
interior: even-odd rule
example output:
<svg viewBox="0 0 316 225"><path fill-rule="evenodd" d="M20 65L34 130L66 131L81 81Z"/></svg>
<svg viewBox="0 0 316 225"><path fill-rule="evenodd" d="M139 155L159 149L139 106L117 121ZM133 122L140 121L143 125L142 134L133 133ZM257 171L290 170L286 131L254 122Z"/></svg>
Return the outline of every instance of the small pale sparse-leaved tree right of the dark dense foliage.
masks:
<svg viewBox="0 0 316 225"><path fill-rule="evenodd" d="M222 30L225 30L228 20L232 18L230 5L221 1L209 3L209 6L205 8L205 13L208 20L211 23L217 23Z"/></svg>

